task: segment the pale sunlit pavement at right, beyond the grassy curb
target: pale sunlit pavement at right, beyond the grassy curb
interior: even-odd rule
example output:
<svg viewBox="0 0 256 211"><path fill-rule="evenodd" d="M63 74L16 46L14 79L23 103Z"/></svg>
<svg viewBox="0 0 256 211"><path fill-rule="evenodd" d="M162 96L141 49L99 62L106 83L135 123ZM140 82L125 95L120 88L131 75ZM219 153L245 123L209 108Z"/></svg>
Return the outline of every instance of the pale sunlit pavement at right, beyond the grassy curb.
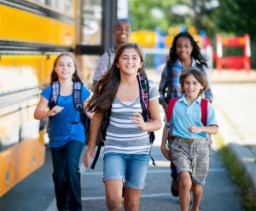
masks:
<svg viewBox="0 0 256 211"><path fill-rule="evenodd" d="M219 134L245 169L256 194L256 83L212 84Z"/></svg>

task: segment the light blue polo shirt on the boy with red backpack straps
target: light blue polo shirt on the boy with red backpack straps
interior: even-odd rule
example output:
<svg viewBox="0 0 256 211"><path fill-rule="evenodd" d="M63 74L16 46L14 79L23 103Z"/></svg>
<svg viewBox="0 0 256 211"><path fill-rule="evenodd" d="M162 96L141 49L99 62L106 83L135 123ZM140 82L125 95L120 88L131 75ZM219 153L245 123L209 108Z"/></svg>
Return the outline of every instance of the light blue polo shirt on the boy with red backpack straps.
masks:
<svg viewBox="0 0 256 211"><path fill-rule="evenodd" d="M204 126L201 123L201 96L199 96L191 105L186 100L185 94L177 100L172 111L173 127L172 135L183 139L201 139L207 138L206 133L191 134L190 126ZM215 111L210 102L207 106L207 126L218 125L215 117Z"/></svg>

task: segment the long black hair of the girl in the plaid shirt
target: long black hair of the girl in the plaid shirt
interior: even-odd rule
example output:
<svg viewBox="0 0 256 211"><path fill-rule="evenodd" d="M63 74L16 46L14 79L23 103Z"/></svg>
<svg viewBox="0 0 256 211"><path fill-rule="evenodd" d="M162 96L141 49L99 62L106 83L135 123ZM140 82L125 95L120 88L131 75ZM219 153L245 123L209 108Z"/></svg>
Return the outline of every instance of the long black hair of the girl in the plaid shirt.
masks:
<svg viewBox="0 0 256 211"><path fill-rule="evenodd" d="M206 60L203 58L202 54L201 54L201 49L199 48L197 42L195 42L194 37L192 37L191 34L189 34L189 32L185 31L185 32L180 32L179 34L177 34L173 41L172 41L172 47L170 48L170 52L169 52L169 57L167 59L167 64L168 65L173 65L174 62L178 59L177 57L177 52L176 52L176 48L177 48L177 40L180 37L186 37L189 39L193 50L191 52L191 57L193 57L195 59L195 61L199 62L201 65L207 66L207 62Z"/></svg>

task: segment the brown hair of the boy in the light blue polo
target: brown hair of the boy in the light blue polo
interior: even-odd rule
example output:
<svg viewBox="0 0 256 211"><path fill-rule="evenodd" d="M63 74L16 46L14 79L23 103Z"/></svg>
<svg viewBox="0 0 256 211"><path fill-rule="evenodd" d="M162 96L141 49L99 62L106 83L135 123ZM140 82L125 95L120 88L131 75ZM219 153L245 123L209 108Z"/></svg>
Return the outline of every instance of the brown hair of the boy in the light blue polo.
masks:
<svg viewBox="0 0 256 211"><path fill-rule="evenodd" d="M182 88L182 93L185 93L185 91L184 91L184 81L185 81L185 78L188 77L188 76L194 76L196 81L198 81L204 87L199 92L199 95L203 94L206 91L207 86L208 86L207 77L197 67L188 67L188 68L186 68L183 71L183 73L181 74L181 76L179 77L179 83L180 83L181 88Z"/></svg>

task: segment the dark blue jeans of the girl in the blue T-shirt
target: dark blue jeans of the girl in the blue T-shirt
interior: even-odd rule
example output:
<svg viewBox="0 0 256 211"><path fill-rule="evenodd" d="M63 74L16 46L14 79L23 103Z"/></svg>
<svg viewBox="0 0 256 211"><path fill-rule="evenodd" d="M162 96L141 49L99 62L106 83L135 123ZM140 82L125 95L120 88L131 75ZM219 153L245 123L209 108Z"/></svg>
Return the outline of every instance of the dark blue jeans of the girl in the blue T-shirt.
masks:
<svg viewBox="0 0 256 211"><path fill-rule="evenodd" d="M83 143L72 140L51 148L53 180L58 210L82 210L79 158Z"/></svg>

